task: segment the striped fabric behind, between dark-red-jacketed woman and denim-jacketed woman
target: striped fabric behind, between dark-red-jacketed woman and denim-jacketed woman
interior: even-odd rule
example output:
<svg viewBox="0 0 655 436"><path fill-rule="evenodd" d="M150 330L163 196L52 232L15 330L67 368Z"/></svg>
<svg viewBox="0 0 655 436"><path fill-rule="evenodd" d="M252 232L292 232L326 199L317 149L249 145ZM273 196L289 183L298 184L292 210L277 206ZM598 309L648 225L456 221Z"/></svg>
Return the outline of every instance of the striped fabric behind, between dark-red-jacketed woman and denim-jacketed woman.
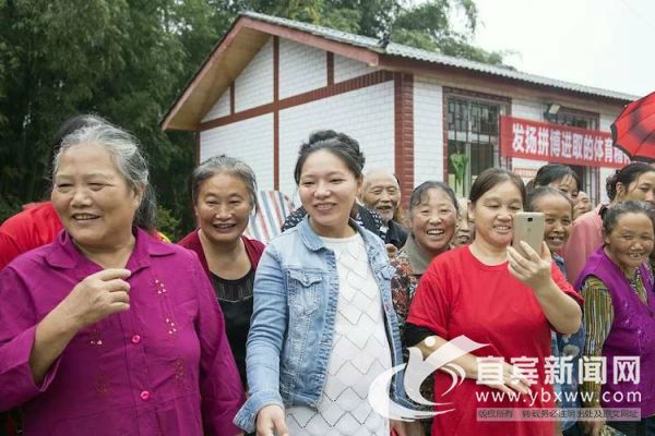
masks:
<svg viewBox="0 0 655 436"><path fill-rule="evenodd" d="M291 199L279 191L260 191L257 202L259 210L250 216L245 234L267 244L281 233L285 218L295 207Z"/></svg>

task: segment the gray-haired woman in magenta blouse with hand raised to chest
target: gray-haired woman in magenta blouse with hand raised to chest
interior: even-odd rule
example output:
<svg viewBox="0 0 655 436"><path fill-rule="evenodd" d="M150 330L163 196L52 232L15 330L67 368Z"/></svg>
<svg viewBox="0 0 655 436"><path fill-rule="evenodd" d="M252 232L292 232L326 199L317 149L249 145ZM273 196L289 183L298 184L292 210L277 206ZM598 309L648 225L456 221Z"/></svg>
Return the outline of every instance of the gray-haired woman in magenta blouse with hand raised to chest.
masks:
<svg viewBox="0 0 655 436"><path fill-rule="evenodd" d="M0 410L25 435L236 435L243 390L198 257L150 238L147 165L102 123L63 140L64 230L0 272Z"/></svg>

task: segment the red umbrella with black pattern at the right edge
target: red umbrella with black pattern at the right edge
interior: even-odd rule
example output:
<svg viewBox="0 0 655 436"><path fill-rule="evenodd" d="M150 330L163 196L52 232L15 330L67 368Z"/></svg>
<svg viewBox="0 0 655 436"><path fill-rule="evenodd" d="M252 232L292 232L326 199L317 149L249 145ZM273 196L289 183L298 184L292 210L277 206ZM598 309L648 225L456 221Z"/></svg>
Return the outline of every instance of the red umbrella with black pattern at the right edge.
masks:
<svg viewBox="0 0 655 436"><path fill-rule="evenodd" d="M626 106L611 124L611 137L633 160L655 161L655 93Z"/></svg>

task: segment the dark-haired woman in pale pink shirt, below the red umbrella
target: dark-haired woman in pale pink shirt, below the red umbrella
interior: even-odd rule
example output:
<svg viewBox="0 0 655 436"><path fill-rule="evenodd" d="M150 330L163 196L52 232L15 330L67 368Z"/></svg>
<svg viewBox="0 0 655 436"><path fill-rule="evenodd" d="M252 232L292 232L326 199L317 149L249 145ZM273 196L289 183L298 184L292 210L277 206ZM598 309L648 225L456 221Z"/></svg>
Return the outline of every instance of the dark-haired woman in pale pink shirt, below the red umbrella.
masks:
<svg viewBox="0 0 655 436"><path fill-rule="evenodd" d="M648 202L655 206L655 168L644 162L632 162L607 178L609 205L598 205L573 221L571 238L561 251L571 283L584 268L590 256L603 244L605 210L628 199Z"/></svg>

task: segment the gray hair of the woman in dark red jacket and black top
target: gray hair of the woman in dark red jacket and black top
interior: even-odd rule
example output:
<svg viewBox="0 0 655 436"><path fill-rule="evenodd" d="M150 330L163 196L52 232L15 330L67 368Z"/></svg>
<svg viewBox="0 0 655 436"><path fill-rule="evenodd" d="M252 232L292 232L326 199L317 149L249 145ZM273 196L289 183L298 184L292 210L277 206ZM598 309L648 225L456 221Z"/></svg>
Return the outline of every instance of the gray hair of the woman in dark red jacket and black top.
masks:
<svg viewBox="0 0 655 436"><path fill-rule="evenodd" d="M257 178L252 168L242 160L226 155L214 156L202 162L191 174L191 197L193 204L198 203L202 184L218 173L235 175L243 182L252 210L258 210L257 204Z"/></svg>

